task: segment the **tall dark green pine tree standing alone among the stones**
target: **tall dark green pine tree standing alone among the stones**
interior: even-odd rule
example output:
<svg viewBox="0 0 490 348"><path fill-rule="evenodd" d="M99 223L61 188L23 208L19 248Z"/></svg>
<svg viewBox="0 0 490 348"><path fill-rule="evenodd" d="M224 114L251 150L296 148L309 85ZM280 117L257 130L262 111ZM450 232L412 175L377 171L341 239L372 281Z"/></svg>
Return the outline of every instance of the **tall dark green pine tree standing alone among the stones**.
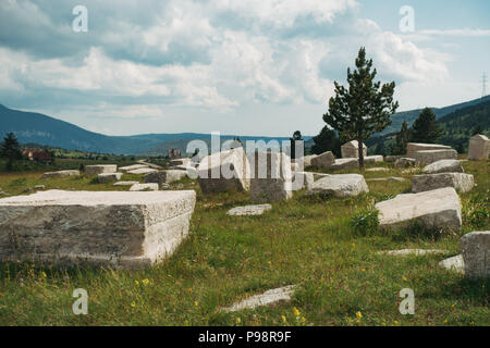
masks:
<svg viewBox="0 0 490 348"><path fill-rule="evenodd" d="M366 60L366 50L360 48L355 61L356 69L347 69L348 88L335 85L335 97L329 100L329 111L323 121L338 132L356 139L359 144L359 167L364 167L364 140L375 132L381 132L391 124L390 116L399 102L393 102L395 83L375 82L376 69L372 60Z"/></svg>

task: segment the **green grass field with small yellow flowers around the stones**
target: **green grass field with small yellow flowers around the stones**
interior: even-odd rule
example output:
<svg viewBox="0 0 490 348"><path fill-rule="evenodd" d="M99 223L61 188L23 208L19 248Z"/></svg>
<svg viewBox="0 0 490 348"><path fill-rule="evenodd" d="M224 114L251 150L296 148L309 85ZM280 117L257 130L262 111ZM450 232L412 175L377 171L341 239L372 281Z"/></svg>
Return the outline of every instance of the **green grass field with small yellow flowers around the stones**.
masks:
<svg viewBox="0 0 490 348"><path fill-rule="evenodd" d="M297 191L261 216L228 216L228 209L249 203L246 194L204 197L197 183L185 179L181 183L195 189L198 200L192 234L170 259L138 271L2 263L0 325L490 325L490 279L470 282L438 266L461 252L462 234L490 229L489 161L463 165L477 186L460 195L461 234L353 227L352 216L409 191L409 181L368 182L368 195L348 199ZM363 174L412 175L392 167ZM8 197L38 184L47 189L127 189L97 184L94 177L40 176L1 173L0 190ZM402 248L446 249L448 254L378 253ZM291 302L220 312L247 296L291 284L298 285ZM88 291L88 315L72 312L75 288ZM399 312L403 288L415 291L415 315Z"/></svg>

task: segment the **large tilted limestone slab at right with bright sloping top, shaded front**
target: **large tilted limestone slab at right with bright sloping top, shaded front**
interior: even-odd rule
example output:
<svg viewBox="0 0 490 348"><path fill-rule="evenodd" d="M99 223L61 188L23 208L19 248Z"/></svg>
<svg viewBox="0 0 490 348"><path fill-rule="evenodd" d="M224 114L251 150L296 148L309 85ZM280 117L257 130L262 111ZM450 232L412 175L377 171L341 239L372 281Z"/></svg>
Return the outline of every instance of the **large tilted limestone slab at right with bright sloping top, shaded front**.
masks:
<svg viewBox="0 0 490 348"><path fill-rule="evenodd" d="M452 187L419 194L402 194L375 206L382 227L403 226L421 221L428 227L461 228L460 197Z"/></svg>

